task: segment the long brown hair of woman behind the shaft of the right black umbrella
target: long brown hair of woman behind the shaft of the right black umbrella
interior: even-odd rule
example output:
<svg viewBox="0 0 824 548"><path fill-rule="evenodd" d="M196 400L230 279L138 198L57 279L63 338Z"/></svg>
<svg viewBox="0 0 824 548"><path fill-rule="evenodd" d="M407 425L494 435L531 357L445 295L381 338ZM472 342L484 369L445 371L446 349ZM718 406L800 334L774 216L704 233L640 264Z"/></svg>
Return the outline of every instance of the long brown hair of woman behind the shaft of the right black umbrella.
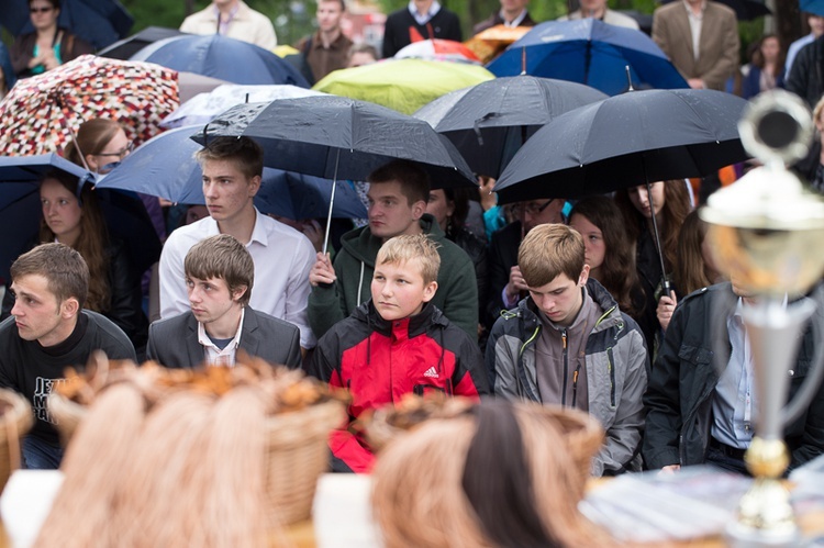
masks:
<svg viewBox="0 0 824 548"><path fill-rule="evenodd" d="M615 192L615 203L624 215L625 230L631 242L637 243L647 219L630 201L630 189ZM684 180L670 179L664 181L664 206L659 213L664 224L662 226L659 224L658 230L660 231L664 266L667 272L671 272L675 267L678 233L681 231L681 225L683 220L687 219L690 208L690 195Z"/></svg>

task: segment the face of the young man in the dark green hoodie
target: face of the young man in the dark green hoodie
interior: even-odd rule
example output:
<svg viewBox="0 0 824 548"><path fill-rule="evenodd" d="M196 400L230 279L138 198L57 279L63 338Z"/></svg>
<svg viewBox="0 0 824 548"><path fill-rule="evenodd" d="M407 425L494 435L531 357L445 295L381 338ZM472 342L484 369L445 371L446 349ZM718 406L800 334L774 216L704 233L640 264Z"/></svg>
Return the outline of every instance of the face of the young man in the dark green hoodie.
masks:
<svg viewBox="0 0 824 548"><path fill-rule="evenodd" d="M426 211L426 202L409 203L401 192L400 181L369 184L369 231L372 235L389 239L401 234L420 232L417 221Z"/></svg>

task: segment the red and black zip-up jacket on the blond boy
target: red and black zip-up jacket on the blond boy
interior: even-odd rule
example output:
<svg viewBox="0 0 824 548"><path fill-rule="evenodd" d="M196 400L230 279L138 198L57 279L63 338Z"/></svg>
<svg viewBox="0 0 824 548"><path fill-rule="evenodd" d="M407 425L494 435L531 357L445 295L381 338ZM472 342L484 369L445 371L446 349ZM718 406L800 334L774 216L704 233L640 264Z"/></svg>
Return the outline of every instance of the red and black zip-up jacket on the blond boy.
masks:
<svg viewBox="0 0 824 548"><path fill-rule="evenodd" d="M489 393L478 345L433 304L394 322L380 317L371 301L361 304L321 337L305 370L352 394L348 423L332 433L330 448L354 472L369 472L375 460L366 440L348 429L364 411L410 392Z"/></svg>

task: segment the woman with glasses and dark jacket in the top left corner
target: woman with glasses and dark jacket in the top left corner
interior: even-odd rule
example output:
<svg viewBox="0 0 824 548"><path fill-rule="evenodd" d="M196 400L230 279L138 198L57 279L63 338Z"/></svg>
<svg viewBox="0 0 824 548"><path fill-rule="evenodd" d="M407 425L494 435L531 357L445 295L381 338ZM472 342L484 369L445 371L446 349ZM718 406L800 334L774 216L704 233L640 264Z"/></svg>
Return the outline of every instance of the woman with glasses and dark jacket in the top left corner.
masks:
<svg viewBox="0 0 824 548"><path fill-rule="evenodd" d="M11 63L19 78L40 75L94 53L89 43L57 25L59 15L60 0L29 0L34 32L18 36L11 46Z"/></svg>

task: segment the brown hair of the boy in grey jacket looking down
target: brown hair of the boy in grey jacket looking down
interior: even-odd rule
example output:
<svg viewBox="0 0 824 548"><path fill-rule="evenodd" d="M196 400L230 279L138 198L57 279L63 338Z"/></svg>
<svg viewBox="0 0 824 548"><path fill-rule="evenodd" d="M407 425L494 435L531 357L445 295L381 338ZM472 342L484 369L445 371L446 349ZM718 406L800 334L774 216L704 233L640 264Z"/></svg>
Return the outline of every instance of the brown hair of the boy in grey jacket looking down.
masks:
<svg viewBox="0 0 824 548"><path fill-rule="evenodd" d="M564 273L578 280L583 271L583 237L564 224L531 230L517 248L517 266L531 288L546 286Z"/></svg>

